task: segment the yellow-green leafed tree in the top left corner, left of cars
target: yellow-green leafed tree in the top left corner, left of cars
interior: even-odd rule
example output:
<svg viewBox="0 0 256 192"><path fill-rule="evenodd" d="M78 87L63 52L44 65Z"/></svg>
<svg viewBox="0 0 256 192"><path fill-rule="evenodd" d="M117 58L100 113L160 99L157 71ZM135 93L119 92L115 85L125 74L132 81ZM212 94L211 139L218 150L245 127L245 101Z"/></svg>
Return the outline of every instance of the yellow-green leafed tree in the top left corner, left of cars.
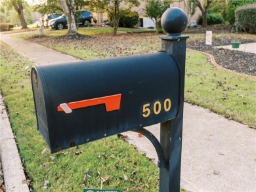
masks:
<svg viewBox="0 0 256 192"><path fill-rule="evenodd" d="M16 10L16 12L18 13L18 17L20 18L20 24L22 26L22 29L26 29L28 28L26 20L24 18L24 6L23 4L25 4L26 2L24 0L5 0L3 1L3 5L6 5L9 8L14 8L14 10Z"/></svg>

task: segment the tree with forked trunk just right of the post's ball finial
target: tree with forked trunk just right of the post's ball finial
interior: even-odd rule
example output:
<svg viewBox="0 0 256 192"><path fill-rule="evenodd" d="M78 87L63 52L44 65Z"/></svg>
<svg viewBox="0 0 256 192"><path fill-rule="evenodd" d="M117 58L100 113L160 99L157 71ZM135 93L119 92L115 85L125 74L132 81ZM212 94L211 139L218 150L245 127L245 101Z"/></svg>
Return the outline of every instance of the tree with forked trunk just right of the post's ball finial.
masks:
<svg viewBox="0 0 256 192"><path fill-rule="evenodd" d="M188 9L190 10L191 14L193 15L196 12L196 7L198 7L202 12L203 17L203 27L207 27L207 12L210 8L211 2L213 0L205 0L206 5L201 5L200 0L189 0L188 1Z"/></svg>

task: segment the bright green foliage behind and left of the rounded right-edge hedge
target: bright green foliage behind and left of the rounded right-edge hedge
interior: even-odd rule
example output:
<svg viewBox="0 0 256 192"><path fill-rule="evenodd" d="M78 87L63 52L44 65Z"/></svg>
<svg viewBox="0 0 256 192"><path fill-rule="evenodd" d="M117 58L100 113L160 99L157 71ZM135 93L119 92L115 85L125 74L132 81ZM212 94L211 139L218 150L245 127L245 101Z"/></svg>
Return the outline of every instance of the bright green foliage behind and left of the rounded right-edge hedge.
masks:
<svg viewBox="0 0 256 192"><path fill-rule="evenodd" d="M228 3L228 11L227 11L227 20L229 24L234 24L235 22L235 10L236 8L242 5L248 5L251 3L255 3L255 0L230 0Z"/></svg>

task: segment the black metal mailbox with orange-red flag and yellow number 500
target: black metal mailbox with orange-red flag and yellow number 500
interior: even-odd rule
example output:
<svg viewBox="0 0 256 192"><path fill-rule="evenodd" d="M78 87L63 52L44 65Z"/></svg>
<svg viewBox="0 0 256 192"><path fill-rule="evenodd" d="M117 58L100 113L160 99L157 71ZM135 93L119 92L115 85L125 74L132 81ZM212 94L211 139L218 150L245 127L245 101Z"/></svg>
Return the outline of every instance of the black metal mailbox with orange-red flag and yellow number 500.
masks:
<svg viewBox="0 0 256 192"><path fill-rule="evenodd" d="M37 128L51 153L174 119L179 65L165 51L34 66Z"/></svg>

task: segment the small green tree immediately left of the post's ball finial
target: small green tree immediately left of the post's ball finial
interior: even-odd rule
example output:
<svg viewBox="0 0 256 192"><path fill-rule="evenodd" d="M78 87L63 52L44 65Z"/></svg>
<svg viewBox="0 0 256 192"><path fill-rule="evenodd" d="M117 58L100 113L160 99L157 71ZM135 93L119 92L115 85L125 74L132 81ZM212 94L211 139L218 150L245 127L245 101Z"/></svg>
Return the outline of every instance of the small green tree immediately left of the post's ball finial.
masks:
<svg viewBox="0 0 256 192"><path fill-rule="evenodd" d="M156 20L156 29L161 29L161 16L163 12L168 8L169 4L172 3L171 0L157 0L148 1L145 7L146 16Z"/></svg>

